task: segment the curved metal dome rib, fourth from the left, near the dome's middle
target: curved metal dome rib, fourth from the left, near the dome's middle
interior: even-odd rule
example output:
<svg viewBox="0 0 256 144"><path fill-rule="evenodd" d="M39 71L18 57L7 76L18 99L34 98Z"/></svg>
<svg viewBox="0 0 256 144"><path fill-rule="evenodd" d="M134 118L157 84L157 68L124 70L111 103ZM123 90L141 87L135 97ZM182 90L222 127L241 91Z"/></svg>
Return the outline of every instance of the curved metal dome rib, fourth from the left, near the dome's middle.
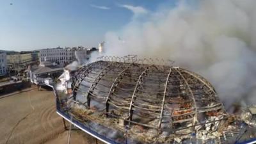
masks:
<svg viewBox="0 0 256 144"><path fill-rule="evenodd" d="M147 74L148 70L149 70L149 67L145 68L145 70L143 72L141 72L140 77L138 78L138 81L137 81L136 86L134 88L131 103L130 103L130 106L129 106L129 116L128 116L128 118L130 119L129 120L129 126L130 126L131 121L132 121L132 104L133 104L134 99L135 99L134 97L135 97L136 93L138 92L137 88L140 86L141 81L143 81L143 76L145 76L145 74Z"/></svg>

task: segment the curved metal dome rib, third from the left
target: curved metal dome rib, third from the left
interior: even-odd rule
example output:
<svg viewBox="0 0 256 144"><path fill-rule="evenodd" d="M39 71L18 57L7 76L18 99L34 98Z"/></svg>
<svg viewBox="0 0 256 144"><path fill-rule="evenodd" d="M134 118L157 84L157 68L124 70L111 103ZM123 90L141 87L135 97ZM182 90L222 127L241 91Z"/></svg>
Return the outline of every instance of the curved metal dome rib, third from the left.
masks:
<svg viewBox="0 0 256 144"><path fill-rule="evenodd" d="M124 74L124 72L126 72L127 70L129 70L131 68L131 65L129 65L127 68L125 68L124 70L122 70L122 72L120 72L118 74L118 76L116 76L115 81L113 82L113 84L111 85L111 88L109 89L109 93L108 93L108 97L106 99L106 115L108 116L108 109L109 109L109 98L111 97L111 95L113 95L113 92L116 89L116 86L118 85L118 83L120 82L120 79L122 79L122 75Z"/></svg>

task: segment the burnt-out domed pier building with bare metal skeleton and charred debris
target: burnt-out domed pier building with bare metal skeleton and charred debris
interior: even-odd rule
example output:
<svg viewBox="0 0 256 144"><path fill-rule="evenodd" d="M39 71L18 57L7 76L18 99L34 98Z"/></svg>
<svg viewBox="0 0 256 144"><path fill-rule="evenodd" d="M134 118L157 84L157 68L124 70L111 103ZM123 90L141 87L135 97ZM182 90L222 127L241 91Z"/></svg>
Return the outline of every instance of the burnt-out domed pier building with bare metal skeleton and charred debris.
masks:
<svg viewBox="0 0 256 144"><path fill-rule="evenodd" d="M79 68L69 83L67 94L60 95L61 108L118 143L124 136L141 143L179 142L191 134L200 139L203 131L214 139L226 116L203 77L136 56L101 58Z"/></svg>

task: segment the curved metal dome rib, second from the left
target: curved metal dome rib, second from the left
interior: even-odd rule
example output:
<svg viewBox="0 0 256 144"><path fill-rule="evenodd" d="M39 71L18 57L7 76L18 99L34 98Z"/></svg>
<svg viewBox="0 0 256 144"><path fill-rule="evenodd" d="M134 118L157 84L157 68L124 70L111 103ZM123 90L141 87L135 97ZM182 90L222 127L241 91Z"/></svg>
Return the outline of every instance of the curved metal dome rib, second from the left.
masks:
<svg viewBox="0 0 256 144"><path fill-rule="evenodd" d="M95 88L95 86L97 86L97 83L100 81L100 79L108 72L109 68L111 68L111 65L113 65L113 62L109 63L107 67L103 68L98 76L94 79L92 85L90 86L88 93L86 95L87 97L87 106L88 108L90 108L90 92ZM118 65L118 67L120 67L120 65L122 65L121 63Z"/></svg>

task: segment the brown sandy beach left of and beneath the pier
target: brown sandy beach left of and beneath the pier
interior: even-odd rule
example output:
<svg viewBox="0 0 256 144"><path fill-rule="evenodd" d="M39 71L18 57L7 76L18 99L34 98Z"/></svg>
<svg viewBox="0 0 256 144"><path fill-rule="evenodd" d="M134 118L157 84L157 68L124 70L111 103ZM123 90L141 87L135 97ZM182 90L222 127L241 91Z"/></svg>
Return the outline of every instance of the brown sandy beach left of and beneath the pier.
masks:
<svg viewBox="0 0 256 144"><path fill-rule="evenodd" d="M68 131L56 113L54 100L54 93L44 88L0 99L0 143L67 143ZM70 143L95 143L95 138L80 130L71 131L70 140Z"/></svg>

